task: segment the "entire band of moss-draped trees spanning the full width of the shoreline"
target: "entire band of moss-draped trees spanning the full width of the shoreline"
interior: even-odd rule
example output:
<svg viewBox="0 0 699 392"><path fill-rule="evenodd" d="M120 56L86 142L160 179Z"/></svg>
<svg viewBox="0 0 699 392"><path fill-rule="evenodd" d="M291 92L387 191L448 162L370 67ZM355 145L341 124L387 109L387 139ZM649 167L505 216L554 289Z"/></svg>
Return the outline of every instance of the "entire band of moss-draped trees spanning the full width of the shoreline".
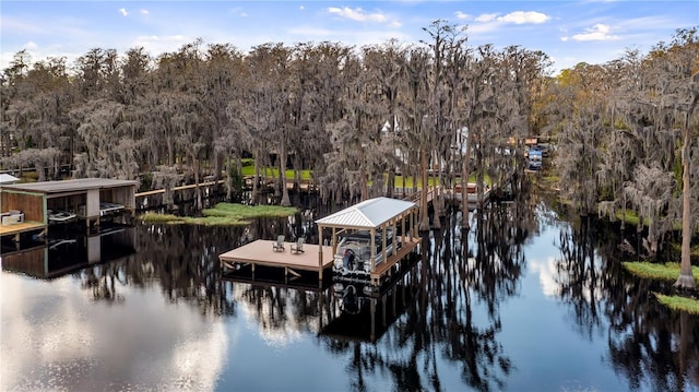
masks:
<svg viewBox="0 0 699 392"><path fill-rule="evenodd" d="M36 168L39 180L57 178L61 167L74 177L149 174L165 187L212 174L225 177L230 195L241 159L252 156L256 175L280 168L274 187L284 205L286 183L298 182L301 169L312 170L321 197L334 201L391 194L399 173L425 190L434 173L439 213L441 187L474 173L481 191L486 177L521 179L524 139L549 135L561 195L573 211L611 218L636 211L649 227L651 254L683 222L678 283L694 284L696 28L677 31L648 55L628 51L556 78L541 51L473 47L466 31L445 21L424 31L420 43L362 48L268 43L244 54L196 40L157 58L143 48L122 56L95 48L72 64L32 62L23 50L2 72L0 165Z"/></svg>

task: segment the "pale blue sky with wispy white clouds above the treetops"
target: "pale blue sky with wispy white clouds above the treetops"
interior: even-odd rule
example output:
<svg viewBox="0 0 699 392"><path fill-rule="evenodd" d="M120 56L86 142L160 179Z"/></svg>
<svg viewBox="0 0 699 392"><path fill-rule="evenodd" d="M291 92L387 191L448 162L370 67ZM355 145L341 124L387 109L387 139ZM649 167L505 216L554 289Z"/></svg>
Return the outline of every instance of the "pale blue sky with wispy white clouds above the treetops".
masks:
<svg viewBox="0 0 699 392"><path fill-rule="evenodd" d="M473 46L542 50L554 71L645 52L699 25L699 1L32 1L0 2L0 68L26 49L34 61L92 48L175 51L202 38L242 51L269 41L369 45L427 39L436 20L467 25Z"/></svg>

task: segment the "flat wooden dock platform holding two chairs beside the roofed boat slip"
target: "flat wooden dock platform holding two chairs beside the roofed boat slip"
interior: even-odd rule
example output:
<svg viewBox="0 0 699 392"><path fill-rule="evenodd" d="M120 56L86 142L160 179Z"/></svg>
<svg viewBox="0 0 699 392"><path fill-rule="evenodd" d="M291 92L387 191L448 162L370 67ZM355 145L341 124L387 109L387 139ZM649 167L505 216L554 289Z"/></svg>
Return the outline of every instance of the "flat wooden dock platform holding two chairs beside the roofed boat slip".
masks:
<svg viewBox="0 0 699 392"><path fill-rule="evenodd" d="M292 252L292 245L295 242L285 242L284 251L275 251L274 243L276 241L259 239L218 256L218 260L223 266L229 269L249 264L253 274L256 265L284 269L285 276L299 276L297 271L317 272L321 281L323 271L332 266L332 247L304 243L304 252ZM319 263L319 250L323 254L322 265Z"/></svg>

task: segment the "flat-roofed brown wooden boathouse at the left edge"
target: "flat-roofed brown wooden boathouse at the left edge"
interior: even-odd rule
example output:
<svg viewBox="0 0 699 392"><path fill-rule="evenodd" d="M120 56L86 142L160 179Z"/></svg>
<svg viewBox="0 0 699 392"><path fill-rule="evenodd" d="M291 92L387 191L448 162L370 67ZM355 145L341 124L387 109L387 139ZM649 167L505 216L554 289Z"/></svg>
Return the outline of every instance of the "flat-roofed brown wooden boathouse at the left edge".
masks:
<svg viewBox="0 0 699 392"><path fill-rule="evenodd" d="M105 178L3 185L0 235L45 230L49 223L72 218L85 219L87 226L98 225L103 216L133 214L137 186L137 181Z"/></svg>

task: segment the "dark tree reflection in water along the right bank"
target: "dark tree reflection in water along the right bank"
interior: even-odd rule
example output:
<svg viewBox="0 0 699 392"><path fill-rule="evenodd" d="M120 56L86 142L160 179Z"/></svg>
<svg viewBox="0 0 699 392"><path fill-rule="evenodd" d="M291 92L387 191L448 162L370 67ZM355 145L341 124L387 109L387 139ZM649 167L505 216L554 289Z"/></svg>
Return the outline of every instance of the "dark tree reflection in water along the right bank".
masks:
<svg viewBox="0 0 699 392"><path fill-rule="evenodd" d="M671 284L621 271L614 237L593 217L561 230L558 296L571 306L579 332L588 338L606 334L607 360L631 390L684 391L688 382L699 384L697 318L655 300L653 293L670 293Z"/></svg>

